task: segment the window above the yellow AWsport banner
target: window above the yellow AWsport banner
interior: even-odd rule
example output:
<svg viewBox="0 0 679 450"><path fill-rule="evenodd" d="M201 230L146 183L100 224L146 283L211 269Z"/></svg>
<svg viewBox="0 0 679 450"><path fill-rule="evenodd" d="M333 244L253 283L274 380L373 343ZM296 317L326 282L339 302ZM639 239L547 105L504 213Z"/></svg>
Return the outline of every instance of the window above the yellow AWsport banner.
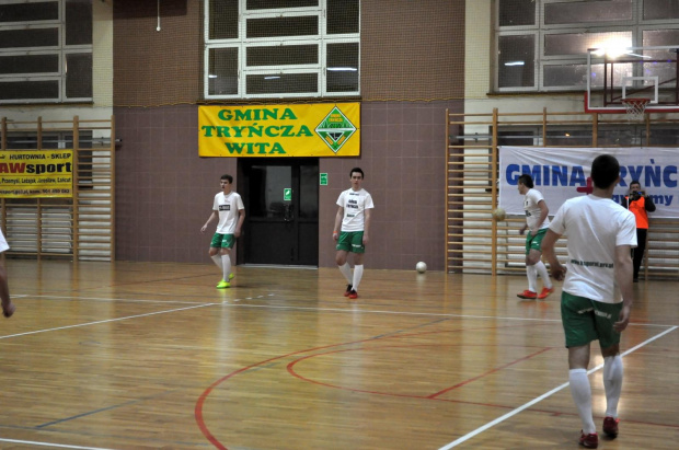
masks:
<svg viewBox="0 0 679 450"><path fill-rule="evenodd" d="M0 3L0 104L92 100L92 2Z"/></svg>

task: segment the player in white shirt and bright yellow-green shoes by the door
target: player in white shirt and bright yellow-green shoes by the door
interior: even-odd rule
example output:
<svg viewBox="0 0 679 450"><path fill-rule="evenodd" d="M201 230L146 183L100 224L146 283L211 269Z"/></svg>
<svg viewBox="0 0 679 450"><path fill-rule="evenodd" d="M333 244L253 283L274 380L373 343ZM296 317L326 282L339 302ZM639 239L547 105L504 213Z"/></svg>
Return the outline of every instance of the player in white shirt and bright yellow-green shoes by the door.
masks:
<svg viewBox="0 0 679 450"><path fill-rule="evenodd" d="M241 228L245 220L245 207L241 196L232 192L233 177L231 175L221 175L219 181L221 191L215 196L212 201L212 214L200 229L205 233L207 226L218 219L217 231L212 235L210 242L209 255L222 272L221 281L217 284L217 289L231 287L229 280L233 278L231 273L231 249L235 244L235 239L241 235Z"/></svg>

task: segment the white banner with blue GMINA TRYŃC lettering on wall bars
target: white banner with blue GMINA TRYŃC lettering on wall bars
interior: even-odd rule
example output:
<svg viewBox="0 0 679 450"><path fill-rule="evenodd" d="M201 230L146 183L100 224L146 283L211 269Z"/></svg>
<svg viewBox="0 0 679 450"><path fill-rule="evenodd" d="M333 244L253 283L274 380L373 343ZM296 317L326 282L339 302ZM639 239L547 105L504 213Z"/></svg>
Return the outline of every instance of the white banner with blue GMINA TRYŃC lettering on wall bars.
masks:
<svg viewBox="0 0 679 450"><path fill-rule="evenodd" d="M620 162L620 183L613 200L621 203L637 180L657 209L651 217L679 217L677 149L671 148L539 148L499 147L499 207L507 214L523 215L523 196L518 177L527 173L544 196L550 216L568 198L590 194L591 162L599 154L612 154Z"/></svg>

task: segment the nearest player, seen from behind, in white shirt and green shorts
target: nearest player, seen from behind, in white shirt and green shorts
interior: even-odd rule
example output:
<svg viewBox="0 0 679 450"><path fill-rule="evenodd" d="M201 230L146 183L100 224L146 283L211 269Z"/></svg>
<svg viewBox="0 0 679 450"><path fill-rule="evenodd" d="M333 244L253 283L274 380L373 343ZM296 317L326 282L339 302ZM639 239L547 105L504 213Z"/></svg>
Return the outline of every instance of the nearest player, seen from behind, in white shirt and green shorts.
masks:
<svg viewBox="0 0 679 450"><path fill-rule="evenodd" d="M634 215L611 197L620 181L620 164L610 154L591 164L591 195L566 200L542 240L542 251L552 275L562 280L561 319L568 348L571 393L583 423L580 445L599 443L591 413L591 388L587 378L589 347L599 341L603 357L606 416L603 432L618 436L618 402L622 386L620 333L630 322L634 300L631 249L636 246ZM563 267L554 253L562 234L568 235L568 264Z"/></svg>

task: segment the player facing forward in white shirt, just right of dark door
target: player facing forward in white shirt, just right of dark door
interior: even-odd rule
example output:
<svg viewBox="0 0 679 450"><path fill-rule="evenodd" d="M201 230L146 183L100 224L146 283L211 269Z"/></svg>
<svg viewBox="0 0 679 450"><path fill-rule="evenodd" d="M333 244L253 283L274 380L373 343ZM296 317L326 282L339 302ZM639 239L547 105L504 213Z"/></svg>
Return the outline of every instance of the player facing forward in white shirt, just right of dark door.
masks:
<svg viewBox="0 0 679 450"><path fill-rule="evenodd" d="M354 168L349 172L352 188L337 198L337 215L333 239L337 242L335 262L348 285L344 297L358 298L358 285L364 275L364 254L369 241L370 217L375 205L368 192L361 188L364 171ZM354 274L347 262L349 252L354 253Z"/></svg>

